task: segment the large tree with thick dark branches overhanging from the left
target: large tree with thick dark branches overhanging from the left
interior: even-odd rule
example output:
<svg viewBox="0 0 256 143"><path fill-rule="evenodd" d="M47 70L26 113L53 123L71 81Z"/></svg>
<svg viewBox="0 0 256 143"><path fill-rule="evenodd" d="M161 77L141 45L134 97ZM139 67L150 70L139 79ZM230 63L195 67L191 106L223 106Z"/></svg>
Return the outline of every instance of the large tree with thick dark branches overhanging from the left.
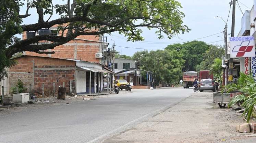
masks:
<svg viewBox="0 0 256 143"><path fill-rule="evenodd" d="M54 53L44 51L65 44L79 35L110 34L119 31L128 41L143 40L141 27L157 29L158 38L163 33L171 38L175 34L188 32L183 25L184 13L176 0L66 0L67 4L53 6L53 0L2 0L1 9L1 59L10 59L13 54L22 51ZM71 4L72 3L72 4ZM21 6L26 6L25 14L19 14ZM38 22L22 25L22 19L31 16L29 10L36 9ZM51 20L53 13L60 18ZM49 16L47 20L45 17ZM49 29L59 25L62 33L58 36L37 35L30 39L17 39L14 35L22 32ZM65 33L65 34L64 34ZM49 44L32 45L38 41L50 41ZM2 64L2 63L1 63ZM3 65L7 67L8 62ZM1 67L0 70L3 68Z"/></svg>

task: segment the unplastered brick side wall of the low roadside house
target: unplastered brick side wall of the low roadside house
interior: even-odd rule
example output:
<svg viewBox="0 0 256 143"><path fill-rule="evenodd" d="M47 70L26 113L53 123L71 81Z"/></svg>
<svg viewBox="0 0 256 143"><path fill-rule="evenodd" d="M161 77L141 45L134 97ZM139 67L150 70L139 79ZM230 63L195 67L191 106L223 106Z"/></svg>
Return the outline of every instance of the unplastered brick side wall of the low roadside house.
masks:
<svg viewBox="0 0 256 143"><path fill-rule="evenodd" d="M18 64L10 68L10 85L13 86L17 83L17 76L26 83L33 82L33 61L34 67L34 92L42 94L42 84L44 84L45 95L47 92L53 92L53 82L55 82L55 90L58 86L67 87L67 94L69 93L69 81L72 81L72 86L75 86L75 61L47 58L47 57L34 57L24 56L15 59ZM25 88L25 86L24 86ZM57 93L56 93L57 94Z"/></svg>

